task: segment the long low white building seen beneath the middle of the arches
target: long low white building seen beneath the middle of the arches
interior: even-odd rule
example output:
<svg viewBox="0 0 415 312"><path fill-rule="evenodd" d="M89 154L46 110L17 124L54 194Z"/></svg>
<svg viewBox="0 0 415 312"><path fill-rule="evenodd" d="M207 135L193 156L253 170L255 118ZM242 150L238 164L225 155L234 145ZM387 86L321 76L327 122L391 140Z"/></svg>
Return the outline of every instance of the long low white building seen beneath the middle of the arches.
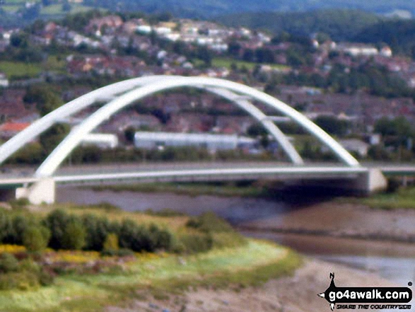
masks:
<svg viewBox="0 0 415 312"><path fill-rule="evenodd" d="M196 146L210 150L236 149L253 146L257 141L233 134L198 134L172 132L136 132L134 145L140 149L156 149L160 146Z"/></svg>

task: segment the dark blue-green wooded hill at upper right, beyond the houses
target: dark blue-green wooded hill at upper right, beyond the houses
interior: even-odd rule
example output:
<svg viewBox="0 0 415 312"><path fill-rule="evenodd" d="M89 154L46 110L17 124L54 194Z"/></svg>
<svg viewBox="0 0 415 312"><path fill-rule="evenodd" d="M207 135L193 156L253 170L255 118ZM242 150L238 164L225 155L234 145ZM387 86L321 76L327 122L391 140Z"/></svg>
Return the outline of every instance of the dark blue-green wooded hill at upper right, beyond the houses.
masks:
<svg viewBox="0 0 415 312"><path fill-rule="evenodd" d="M228 26L310 36L325 33L336 41L387 44L394 53L415 57L415 19L386 18L357 10L290 13L239 13L215 18Z"/></svg>

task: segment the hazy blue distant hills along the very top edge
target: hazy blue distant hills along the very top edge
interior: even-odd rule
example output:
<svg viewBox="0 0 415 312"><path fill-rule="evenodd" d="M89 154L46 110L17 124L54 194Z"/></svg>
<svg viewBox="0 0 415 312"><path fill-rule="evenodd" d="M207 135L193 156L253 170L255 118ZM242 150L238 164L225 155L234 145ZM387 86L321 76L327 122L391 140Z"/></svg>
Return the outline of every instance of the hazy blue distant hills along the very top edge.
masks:
<svg viewBox="0 0 415 312"><path fill-rule="evenodd" d="M83 1L62 1L62 0L33 0L30 4L35 6L26 6L26 0L0 0L0 26L27 24L35 18L60 18L66 13L76 13L86 11L90 8L106 8L110 11L134 12L142 11L144 13L172 13L173 16L180 18L218 18L218 16L226 16L220 18L225 22L229 18L230 23L235 24L241 19L247 26L258 26L264 28L275 29L272 26L274 16L271 12L301 12L300 18L308 24L303 14L309 14L312 11L320 10L355 10L366 11L358 15L352 13L349 21L353 22L355 18L358 23L373 22L377 15L397 14L399 16L411 17L415 16L415 1L413 0L83 0ZM258 13L267 12L267 13ZM305 13L307 12L307 13ZM254 13L254 15L250 15ZM236 14L236 15L233 15ZM271 15L267 15L271 14ZM281 14L276 13L276 18L281 20ZM341 13L339 13L341 14ZM10 18L10 16L12 16ZM266 25L260 25L265 18ZM363 18L361 18L363 17ZM320 17L322 20L324 16ZM321 22L319 22L321 24ZM283 25L283 23L279 23ZM291 23L294 29L300 30L299 25ZM327 23L326 28L330 24ZM353 27L356 29L356 27ZM333 30L335 32L336 30Z"/></svg>

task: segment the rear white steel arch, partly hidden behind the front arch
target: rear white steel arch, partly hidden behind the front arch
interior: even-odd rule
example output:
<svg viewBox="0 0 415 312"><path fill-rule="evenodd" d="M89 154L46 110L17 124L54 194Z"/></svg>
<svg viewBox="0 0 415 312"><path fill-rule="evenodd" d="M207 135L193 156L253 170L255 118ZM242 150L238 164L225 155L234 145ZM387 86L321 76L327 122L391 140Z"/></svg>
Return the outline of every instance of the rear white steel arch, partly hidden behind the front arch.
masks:
<svg viewBox="0 0 415 312"><path fill-rule="evenodd" d="M62 105L57 110L50 112L49 114L42 117L40 120L33 122L32 125L24 129L23 131L16 134L16 136L12 137L5 144L0 146L0 164L3 163L8 157L10 157L13 153L21 149L25 144L29 141L35 139L39 134L45 132L49 127L52 127L54 123L59 122L66 117L74 115L76 112L79 112L88 106L95 103L97 100L103 98L111 98L112 96L119 95L126 91L130 91L133 88L137 88L139 86L144 86L148 83L154 83L156 81L164 81L164 80L174 80L182 78L182 76L144 76L135 79L129 79L126 81L120 81L118 83L113 83L109 86L105 86L103 88L99 88L95 91L87 93L79 98L71 100L69 103ZM267 120L267 116L264 113L252 105L250 101L244 98L238 98L235 93L230 91L226 91L225 89L220 88L213 88L209 90L211 93L216 93L218 96L222 96L223 98L227 98L228 100L233 101L236 103L240 108L247 111L252 117L262 123L264 127L269 131L269 133L279 141L281 144L282 149L286 151L288 157L296 164L303 164L303 159L297 153L296 149L293 145L286 139L284 133L276 127L274 122Z"/></svg>

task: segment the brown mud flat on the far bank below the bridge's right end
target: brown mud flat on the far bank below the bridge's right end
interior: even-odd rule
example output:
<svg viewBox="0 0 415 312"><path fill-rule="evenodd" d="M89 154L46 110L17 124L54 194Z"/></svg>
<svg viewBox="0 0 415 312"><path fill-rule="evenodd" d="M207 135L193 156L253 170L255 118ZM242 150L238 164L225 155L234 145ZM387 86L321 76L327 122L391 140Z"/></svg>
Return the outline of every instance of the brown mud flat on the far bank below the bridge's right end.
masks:
<svg viewBox="0 0 415 312"><path fill-rule="evenodd" d="M286 209L278 216L243 221L245 231L312 234L374 241L415 242L415 210L382 210L323 202Z"/></svg>

